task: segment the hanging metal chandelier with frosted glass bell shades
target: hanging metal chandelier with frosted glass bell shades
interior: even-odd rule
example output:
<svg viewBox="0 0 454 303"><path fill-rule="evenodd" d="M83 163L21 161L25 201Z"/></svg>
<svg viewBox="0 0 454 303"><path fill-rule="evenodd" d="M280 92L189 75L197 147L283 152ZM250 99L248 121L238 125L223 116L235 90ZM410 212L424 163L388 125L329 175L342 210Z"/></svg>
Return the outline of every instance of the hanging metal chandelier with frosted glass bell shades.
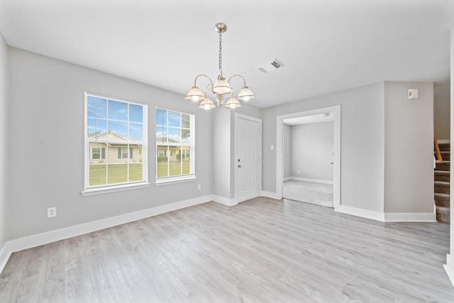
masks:
<svg viewBox="0 0 454 303"><path fill-rule="evenodd" d="M189 91L187 96L184 98L187 101L194 101L194 102L199 102L199 109L214 109L216 105L214 105L214 102L209 99L207 96L206 92L209 91L211 94L214 94L214 97L216 97L217 103L219 107L223 106L223 101L226 97L228 97L229 94L231 94L231 98L228 99L225 107L228 109L237 109L241 107L240 101L249 101L250 99L253 99L255 96L253 92L250 91L249 87L246 86L246 80L244 79L243 76L241 75L233 75L230 77L228 80L224 78L222 74L222 34L227 31L227 26L224 23L217 23L216 26L214 26L214 31L219 33L219 75L218 79L216 80L216 83L213 84L213 81L211 81L211 78L208 77L207 75L201 74L194 79L194 86L192 89ZM197 87L196 82L199 77L206 77L209 79L210 84L206 86L205 89L205 94L201 92L199 87ZM240 77L243 79L243 88L240 90L238 93L238 97L233 97L233 88L231 87L231 79L233 77ZM239 101L240 100L240 101Z"/></svg>

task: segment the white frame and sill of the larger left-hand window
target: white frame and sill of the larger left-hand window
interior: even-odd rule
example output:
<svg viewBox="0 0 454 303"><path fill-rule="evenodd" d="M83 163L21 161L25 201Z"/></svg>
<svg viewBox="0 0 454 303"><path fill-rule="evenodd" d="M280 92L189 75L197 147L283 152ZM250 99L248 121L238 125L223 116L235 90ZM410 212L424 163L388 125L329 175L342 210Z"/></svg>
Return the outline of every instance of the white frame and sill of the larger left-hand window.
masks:
<svg viewBox="0 0 454 303"><path fill-rule="evenodd" d="M90 186L89 185L89 160L90 155L92 156L92 150L89 150L89 143L92 142L88 139L87 136L87 128L88 128L88 116L87 116L87 109L88 109L88 97L96 97L102 98L111 101L119 101L127 104L136 104L143 106L143 140L142 141L128 141L128 144L140 144L142 146L142 181L132 181L132 182L123 182L123 183L116 183L116 184L103 184L103 185L96 185ZM128 116L129 118L129 116ZM98 139L96 142L99 143L121 143L124 144L125 142L116 142L113 140L106 139ZM130 148L128 148L128 158L130 153ZM102 151L100 150L100 157ZM106 149L105 151L105 158L109 158L109 151ZM123 156L123 155L122 155ZM128 159L129 160L129 159ZM137 189L143 187L149 187L150 183L148 182L148 104L133 102L133 101L126 101L123 99L106 97L99 94L92 94L89 92L85 92L84 96L84 190L81 192L82 196L90 196L93 194L105 194L108 192L119 192L128 189Z"/></svg>

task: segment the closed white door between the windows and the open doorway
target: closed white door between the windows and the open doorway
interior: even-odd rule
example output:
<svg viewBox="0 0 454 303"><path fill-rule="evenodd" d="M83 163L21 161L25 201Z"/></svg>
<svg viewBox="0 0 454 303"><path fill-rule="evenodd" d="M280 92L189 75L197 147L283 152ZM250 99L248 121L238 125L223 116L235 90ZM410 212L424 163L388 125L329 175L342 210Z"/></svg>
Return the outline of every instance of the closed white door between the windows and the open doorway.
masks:
<svg viewBox="0 0 454 303"><path fill-rule="evenodd" d="M236 196L243 202L260 193L260 121L236 118Z"/></svg>

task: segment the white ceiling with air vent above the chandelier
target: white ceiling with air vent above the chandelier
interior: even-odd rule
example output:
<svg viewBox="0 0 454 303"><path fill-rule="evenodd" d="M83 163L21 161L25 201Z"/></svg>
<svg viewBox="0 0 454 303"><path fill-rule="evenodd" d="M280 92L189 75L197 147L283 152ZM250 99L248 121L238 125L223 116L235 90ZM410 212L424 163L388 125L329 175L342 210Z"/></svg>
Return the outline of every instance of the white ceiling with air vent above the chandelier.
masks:
<svg viewBox="0 0 454 303"><path fill-rule="evenodd" d="M218 75L218 22L224 75L243 75L261 108L384 80L449 82L452 0L0 0L9 45L182 95ZM284 66L256 68L271 58Z"/></svg>

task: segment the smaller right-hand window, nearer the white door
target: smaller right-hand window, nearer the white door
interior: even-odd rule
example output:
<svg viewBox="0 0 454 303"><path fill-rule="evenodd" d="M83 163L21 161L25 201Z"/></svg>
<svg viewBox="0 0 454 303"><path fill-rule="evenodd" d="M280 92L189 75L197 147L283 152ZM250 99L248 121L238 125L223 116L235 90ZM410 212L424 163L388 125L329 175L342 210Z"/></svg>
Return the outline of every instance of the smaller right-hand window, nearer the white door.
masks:
<svg viewBox="0 0 454 303"><path fill-rule="evenodd" d="M156 109L156 180L194 177L194 115Z"/></svg>

